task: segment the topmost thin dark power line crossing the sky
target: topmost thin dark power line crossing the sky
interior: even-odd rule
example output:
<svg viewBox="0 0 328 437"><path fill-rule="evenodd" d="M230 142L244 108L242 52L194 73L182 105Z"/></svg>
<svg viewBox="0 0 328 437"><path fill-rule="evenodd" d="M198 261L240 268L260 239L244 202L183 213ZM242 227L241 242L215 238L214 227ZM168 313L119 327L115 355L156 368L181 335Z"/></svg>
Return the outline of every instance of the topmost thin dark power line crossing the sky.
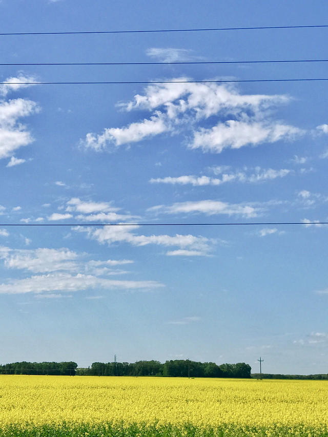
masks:
<svg viewBox="0 0 328 437"><path fill-rule="evenodd" d="M150 30L102 30L102 31L76 31L76 32L2 32L1 36L11 35L90 35L90 34L120 34L120 33L159 33L159 32L209 32L226 30L264 30L264 29L319 29L328 25L314 26L254 26L254 27L219 27L200 29L150 29Z"/></svg>

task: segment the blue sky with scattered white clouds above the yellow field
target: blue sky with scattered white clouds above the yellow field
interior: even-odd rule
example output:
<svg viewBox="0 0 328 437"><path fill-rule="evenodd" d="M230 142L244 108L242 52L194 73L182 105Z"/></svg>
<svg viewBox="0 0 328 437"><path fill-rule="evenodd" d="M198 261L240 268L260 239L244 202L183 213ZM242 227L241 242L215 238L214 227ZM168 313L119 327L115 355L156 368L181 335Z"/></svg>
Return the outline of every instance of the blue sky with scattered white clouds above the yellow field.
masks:
<svg viewBox="0 0 328 437"><path fill-rule="evenodd" d="M325 25L328 5L2 0L0 14L2 33L208 29ZM326 373L327 227L307 224L328 220L326 82L238 81L328 77L325 62L240 63L327 59L327 29L0 38L0 362ZM13 65L174 61L235 63ZM37 83L58 81L168 83ZM196 225L272 222L304 224Z"/></svg>

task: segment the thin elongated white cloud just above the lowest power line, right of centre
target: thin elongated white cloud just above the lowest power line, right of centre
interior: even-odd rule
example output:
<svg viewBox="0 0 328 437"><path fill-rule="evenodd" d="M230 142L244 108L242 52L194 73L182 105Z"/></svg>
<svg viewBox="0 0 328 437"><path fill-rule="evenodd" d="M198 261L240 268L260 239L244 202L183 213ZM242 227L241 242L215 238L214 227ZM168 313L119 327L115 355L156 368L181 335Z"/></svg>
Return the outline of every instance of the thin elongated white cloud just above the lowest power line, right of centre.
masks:
<svg viewBox="0 0 328 437"><path fill-rule="evenodd" d="M174 203L171 206L157 205L148 211L165 214L202 213L207 215L227 214L243 217L256 217L259 209L250 205L225 203L218 200L200 200L195 202Z"/></svg>

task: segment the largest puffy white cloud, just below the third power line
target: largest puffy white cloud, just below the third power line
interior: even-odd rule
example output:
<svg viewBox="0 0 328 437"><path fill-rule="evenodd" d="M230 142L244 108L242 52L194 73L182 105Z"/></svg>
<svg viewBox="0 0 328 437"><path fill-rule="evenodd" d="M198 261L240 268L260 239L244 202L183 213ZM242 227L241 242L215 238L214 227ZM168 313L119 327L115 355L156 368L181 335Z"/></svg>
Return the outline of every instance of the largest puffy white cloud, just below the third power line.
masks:
<svg viewBox="0 0 328 437"><path fill-rule="evenodd" d="M169 83L149 85L143 94L136 94L132 101L119 105L127 112L148 111L149 118L122 128L106 128L101 134L88 133L81 144L95 151L114 151L122 144L159 134L183 133L190 137L189 148L220 153L226 148L292 140L303 133L272 120L269 114L269 109L291 100L286 95L243 95L232 84L188 80L178 77ZM211 116L220 121L210 128L199 127L202 120Z"/></svg>

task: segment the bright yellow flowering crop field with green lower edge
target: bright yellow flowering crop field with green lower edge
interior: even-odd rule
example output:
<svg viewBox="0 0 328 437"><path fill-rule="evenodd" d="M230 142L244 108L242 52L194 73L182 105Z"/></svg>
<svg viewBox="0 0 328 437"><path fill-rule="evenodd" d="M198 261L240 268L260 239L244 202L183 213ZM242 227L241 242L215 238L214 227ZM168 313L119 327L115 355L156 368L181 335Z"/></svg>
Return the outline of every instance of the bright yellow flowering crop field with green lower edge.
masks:
<svg viewBox="0 0 328 437"><path fill-rule="evenodd" d="M328 382L3 375L14 435L328 436Z"/></svg>

